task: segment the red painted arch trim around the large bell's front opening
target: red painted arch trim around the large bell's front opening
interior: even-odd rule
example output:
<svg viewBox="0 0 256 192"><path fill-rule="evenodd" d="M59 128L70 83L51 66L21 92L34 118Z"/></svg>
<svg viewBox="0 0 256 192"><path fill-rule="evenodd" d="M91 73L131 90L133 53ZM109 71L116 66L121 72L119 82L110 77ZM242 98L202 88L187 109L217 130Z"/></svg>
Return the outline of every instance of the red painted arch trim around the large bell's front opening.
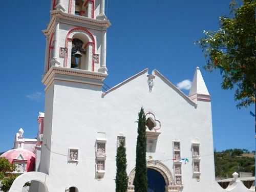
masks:
<svg viewBox="0 0 256 192"><path fill-rule="evenodd" d="M72 28L71 30L68 31L68 34L66 36L66 41L65 41L65 47L68 49L68 42L72 41L72 38L69 37L69 35L74 32L74 31L83 31L85 32L87 35L89 35L92 39L92 41L87 42L87 44L89 43L90 45L93 46L93 54L92 54L92 71L94 71L94 59L93 59L93 55L95 53L95 39L93 37L93 34L86 28L83 27L75 27ZM64 58L64 67L67 67L67 62L68 62L68 56L65 56Z"/></svg>

